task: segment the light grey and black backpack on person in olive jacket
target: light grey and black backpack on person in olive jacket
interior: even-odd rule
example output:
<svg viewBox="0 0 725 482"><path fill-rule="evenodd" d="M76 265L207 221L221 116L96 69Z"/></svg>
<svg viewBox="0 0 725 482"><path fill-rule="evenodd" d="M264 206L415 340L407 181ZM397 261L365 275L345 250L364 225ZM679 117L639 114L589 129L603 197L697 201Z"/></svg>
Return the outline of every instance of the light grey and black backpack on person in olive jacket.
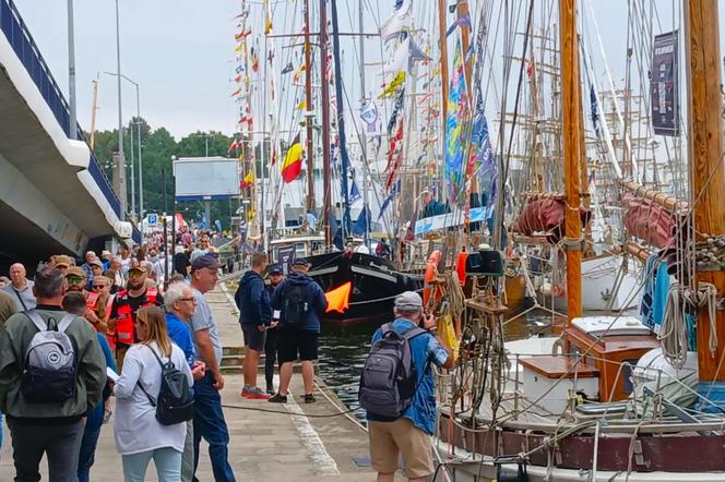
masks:
<svg viewBox="0 0 725 482"><path fill-rule="evenodd" d="M25 312L38 328L25 352L21 390L32 403L62 402L75 395L75 349L66 335L75 315L66 314L50 329L34 310Z"/></svg>

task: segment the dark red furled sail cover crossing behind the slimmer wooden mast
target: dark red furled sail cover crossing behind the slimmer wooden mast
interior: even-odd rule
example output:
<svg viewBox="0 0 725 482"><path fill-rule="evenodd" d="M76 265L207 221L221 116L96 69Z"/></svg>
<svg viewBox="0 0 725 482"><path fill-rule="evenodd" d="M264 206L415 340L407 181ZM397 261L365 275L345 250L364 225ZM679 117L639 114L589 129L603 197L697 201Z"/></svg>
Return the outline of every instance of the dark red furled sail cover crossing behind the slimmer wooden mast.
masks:
<svg viewBox="0 0 725 482"><path fill-rule="evenodd" d="M579 216L584 227L592 215L587 209L580 207ZM551 244L561 240L563 229L564 202L551 198L534 200L528 203L511 226L512 231L523 236L544 232Z"/></svg>

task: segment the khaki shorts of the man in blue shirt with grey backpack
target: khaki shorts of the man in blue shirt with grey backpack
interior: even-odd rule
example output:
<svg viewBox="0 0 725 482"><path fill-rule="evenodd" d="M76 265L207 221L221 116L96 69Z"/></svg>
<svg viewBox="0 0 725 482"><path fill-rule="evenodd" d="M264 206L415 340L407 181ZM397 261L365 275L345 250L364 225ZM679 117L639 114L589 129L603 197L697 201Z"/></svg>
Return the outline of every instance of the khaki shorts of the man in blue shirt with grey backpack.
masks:
<svg viewBox="0 0 725 482"><path fill-rule="evenodd" d="M382 473L397 470L397 454L403 456L405 477L416 479L435 472L430 435L413 425L411 419L394 422L368 421L370 463Z"/></svg>

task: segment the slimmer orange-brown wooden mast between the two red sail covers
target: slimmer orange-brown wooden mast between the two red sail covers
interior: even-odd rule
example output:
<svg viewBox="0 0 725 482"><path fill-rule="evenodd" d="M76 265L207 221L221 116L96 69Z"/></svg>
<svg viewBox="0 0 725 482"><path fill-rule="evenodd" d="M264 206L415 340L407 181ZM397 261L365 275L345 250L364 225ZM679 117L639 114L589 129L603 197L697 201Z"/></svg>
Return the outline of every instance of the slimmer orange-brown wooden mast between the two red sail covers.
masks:
<svg viewBox="0 0 725 482"><path fill-rule="evenodd" d="M561 113L567 206L564 246L567 250L567 326L582 314L582 252L579 207L581 201L580 156L582 146L581 84L575 0L560 0Z"/></svg>

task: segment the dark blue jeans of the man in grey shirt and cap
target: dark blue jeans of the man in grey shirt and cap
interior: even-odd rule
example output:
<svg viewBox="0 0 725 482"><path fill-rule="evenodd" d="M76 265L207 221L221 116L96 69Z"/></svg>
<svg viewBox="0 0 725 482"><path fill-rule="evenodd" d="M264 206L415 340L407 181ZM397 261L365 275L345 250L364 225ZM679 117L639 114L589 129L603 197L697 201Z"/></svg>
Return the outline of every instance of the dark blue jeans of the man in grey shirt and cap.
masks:
<svg viewBox="0 0 725 482"><path fill-rule="evenodd" d="M209 458L216 482L235 482L229 466L229 431L224 421L222 397L212 386L214 376L206 372L204 377L194 384L194 473L199 467L199 444L204 438L209 443ZM194 481L198 479L194 477Z"/></svg>

